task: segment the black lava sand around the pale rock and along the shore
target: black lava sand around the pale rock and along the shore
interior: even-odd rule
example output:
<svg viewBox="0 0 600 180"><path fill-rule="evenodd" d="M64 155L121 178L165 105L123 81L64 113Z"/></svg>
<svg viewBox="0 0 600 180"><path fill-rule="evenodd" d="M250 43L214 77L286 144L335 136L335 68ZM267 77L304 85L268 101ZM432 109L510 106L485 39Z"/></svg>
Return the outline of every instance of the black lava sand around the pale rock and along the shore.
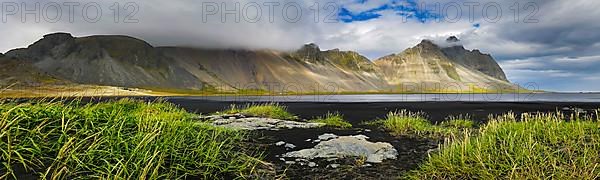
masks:
<svg viewBox="0 0 600 180"><path fill-rule="evenodd" d="M215 102L205 100L169 100L181 107L197 113L212 113L227 109L231 104L243 105L248 102ZM281 103L288 107L291 113L301 118L310 119L322 116L328 112L340 112L345 119L354 125L351 130L339 129L295 129L282 131L258 132L253 143L262 145L266 149L266 160L276 166L277 173L285 173L285 178L290 179L396 179L402 173L418 168L427 158L427 152L435 149L441 143L438 140L393 137L388 133L362 125L362 122L373 121L384 118L390 111L407 109L410 111L425 112L432 122L443 121L450 115L468 114L473 120L484 123L490 114L498 115L507 112L516 114L524 112L556 112L570 113L565 108L581 108L591 111L600 107L600 103L550 103L550 102L527 102L527 103L500 103L500 102L406 102L406 103ZM365 129L371 130L365 132ZM365 167L356 159L345 159L334 162L326 160L316 161L318 167L286 165L278 155L293 150L312 148L316 143L307 142L307 139L315 139L324 133L336 135L358 135L363 134L370 137L372 142L388 142L398 150L396 160L385 160L381 164L371 164ZM286 150L282 146L274 146L279 141L291 143L297 147ZM327 168L328 164L342 164L338 168ZM346 165L343 165L346 164Z"/></svg>

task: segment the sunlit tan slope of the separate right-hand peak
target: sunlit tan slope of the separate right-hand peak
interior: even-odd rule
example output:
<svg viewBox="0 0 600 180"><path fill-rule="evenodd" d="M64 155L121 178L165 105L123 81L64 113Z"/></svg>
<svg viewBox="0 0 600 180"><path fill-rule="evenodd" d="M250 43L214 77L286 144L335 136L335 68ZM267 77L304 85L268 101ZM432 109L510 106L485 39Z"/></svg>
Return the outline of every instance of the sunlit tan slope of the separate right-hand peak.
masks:
<svg viewBox="0 0 600 180"><path fill-rule="evenodd" d="M402 91L455 92L511 87L508 82L453 62L429 40L402 53L382 57L375 64L383 78Z"/></svg>

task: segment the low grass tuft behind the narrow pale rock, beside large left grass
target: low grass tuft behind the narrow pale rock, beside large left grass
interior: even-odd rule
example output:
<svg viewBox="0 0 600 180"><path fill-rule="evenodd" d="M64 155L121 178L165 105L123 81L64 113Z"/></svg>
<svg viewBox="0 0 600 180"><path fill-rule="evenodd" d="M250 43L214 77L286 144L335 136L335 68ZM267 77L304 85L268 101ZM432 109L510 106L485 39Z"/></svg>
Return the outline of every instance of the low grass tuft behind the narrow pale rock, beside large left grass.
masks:
<svg viewBox="0 0 600 180"><path fill-rule="evenodd" d="M265 117L274 119L295 120L296 116L287 111L287 107L274 104L248 104L242 108L232 105L228 110L217 114L243 114L246 116Z"/></svg>

